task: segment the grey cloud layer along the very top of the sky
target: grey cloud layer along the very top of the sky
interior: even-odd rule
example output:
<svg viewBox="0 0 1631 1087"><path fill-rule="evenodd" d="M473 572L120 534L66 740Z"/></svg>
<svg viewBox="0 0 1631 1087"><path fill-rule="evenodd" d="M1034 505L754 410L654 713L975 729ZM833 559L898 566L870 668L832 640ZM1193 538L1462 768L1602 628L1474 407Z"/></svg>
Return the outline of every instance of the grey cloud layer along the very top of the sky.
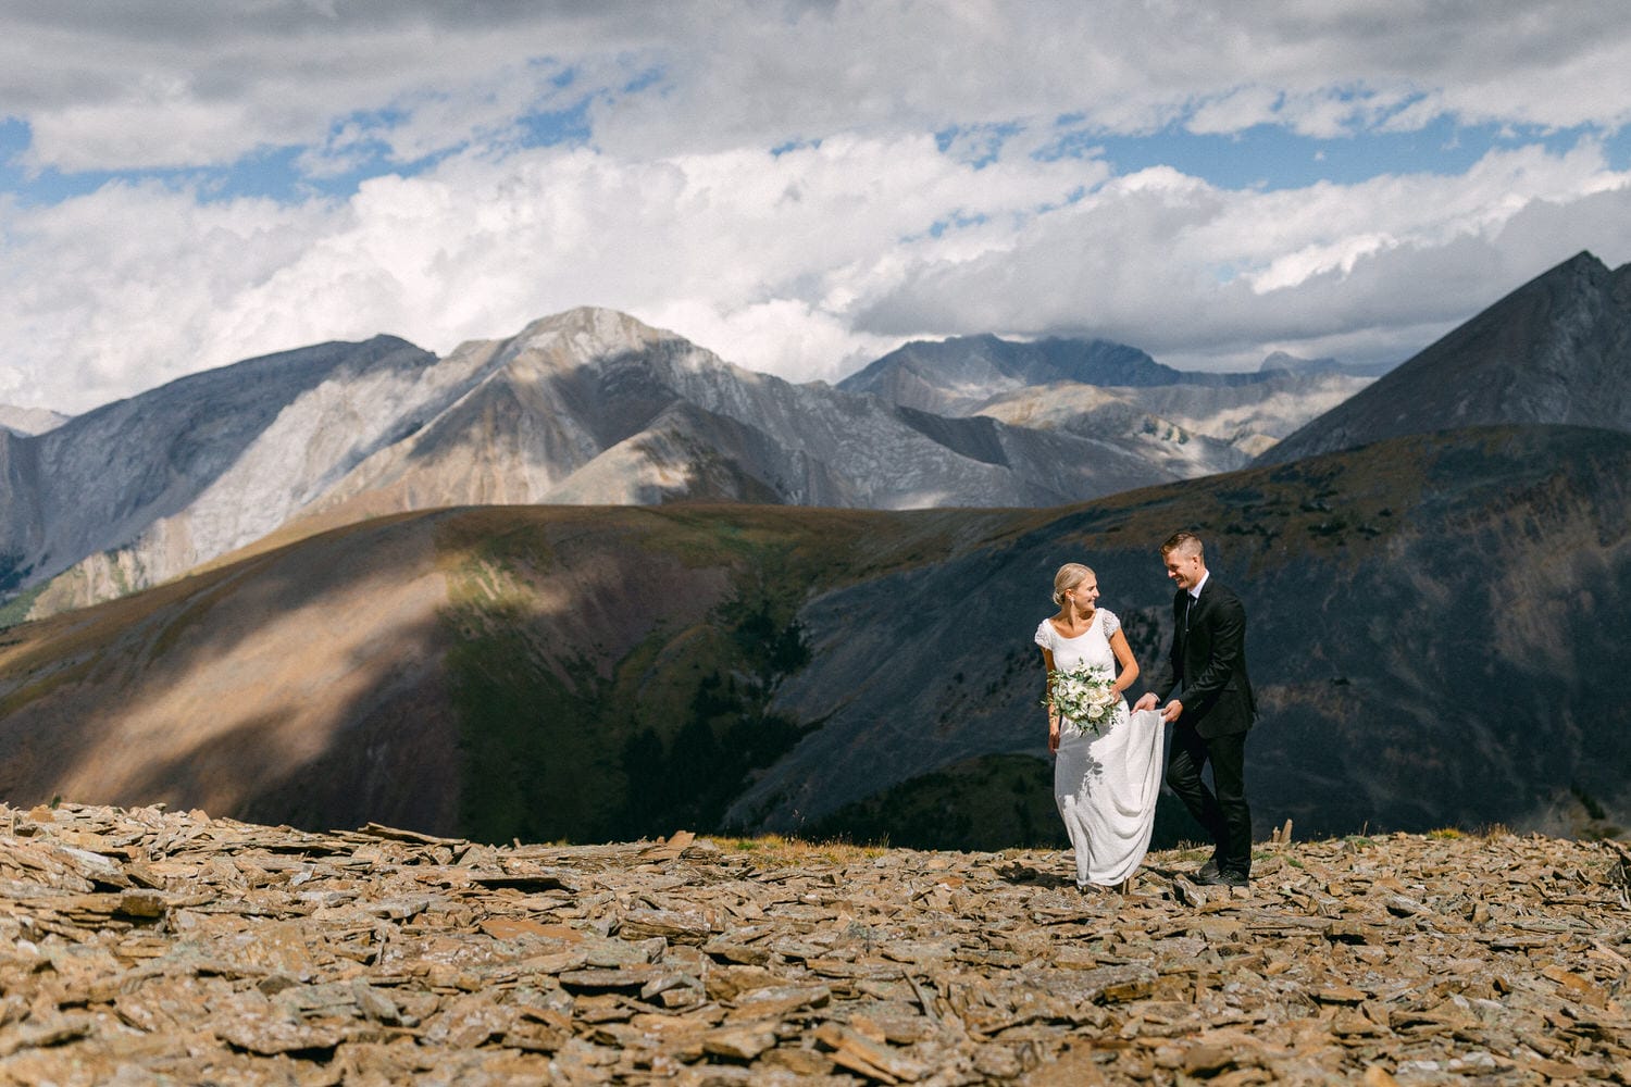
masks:
<svg viewBox="0 0 1631 1087"><path fill-rule="evenodd" d="M1197 132L1274 119L1329 135L1406 101L1391 124L1439 109L1546 127L1631 119L1631 24L1569 0L0 0L0 103L33 125L29 161L60 169L321 147L354 112L385 117L377 135L413 161L586 96L599 145L620 155L1060 114L1112 132L1192 112ZM623 90L643 73L654 93Z"/></svg>

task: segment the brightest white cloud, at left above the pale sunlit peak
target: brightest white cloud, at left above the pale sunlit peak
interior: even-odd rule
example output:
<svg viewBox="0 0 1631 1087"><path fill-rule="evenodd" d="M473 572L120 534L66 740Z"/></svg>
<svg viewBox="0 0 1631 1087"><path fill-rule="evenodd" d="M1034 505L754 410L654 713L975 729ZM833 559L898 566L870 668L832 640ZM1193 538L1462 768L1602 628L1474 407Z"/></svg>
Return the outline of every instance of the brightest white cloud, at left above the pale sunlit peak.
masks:
<svg viewBox="0 0 1631 1087"><path fill-rule="evenodd" d="M382 331L447 350L586 303L752 368L837 378L884 344L850 329L853 300L894 282L902 248L987 251L1103 176L1078 161L975 169L918 137L780 156L466 155L298 209L109 186L7 213L16 259L0 284L15 290L0 295L0 326L26 336L0 398L83 409L206 365ZM966 213L990 222L933 236Z"/></svg>

